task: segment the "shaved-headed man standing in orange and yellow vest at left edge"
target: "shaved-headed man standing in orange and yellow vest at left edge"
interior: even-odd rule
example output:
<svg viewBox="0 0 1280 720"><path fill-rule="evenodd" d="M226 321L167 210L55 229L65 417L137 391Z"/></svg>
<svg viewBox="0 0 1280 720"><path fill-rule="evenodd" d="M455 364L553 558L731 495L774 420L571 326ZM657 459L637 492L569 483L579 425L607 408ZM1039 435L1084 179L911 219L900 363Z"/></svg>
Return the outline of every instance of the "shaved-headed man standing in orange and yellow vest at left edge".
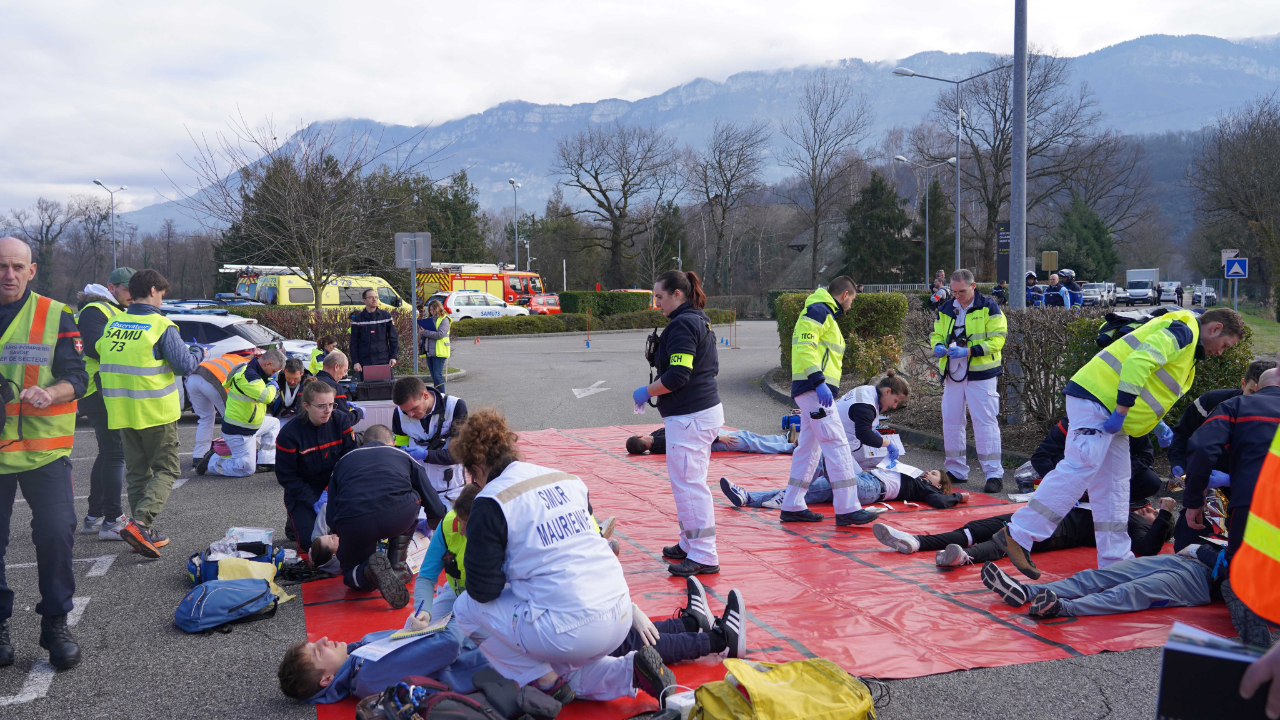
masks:
<svg viewBox="0 0 1280 720"><path fill-rule="evenodd" d="M20 487L36 543L40 647L49 651L50 665L65 669L81 655L67 628L76 593L76 502L68 456L76 438L76 400L84 395L88 373L70 309L31 292L27 283L35 277L31 247L15 237L0 238L0 666L14 662L13 591L5 580L4 551Z"/></svg>

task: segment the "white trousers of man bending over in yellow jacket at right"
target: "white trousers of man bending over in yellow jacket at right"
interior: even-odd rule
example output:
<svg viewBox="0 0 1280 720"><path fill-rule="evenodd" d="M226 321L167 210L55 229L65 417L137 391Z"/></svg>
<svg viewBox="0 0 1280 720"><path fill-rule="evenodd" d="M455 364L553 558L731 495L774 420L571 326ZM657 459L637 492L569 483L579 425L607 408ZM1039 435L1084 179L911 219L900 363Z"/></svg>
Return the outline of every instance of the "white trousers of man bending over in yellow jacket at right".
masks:
<svg viewBox="0 0 1280 720"><path fill-rule="evenodd" d="M1027 507L1014 512L1009 533L1023 547L1053 534L1084 491L1093 510L1098 568L1133 557L1129 541L1129 436L1102 432L1111 414L1091 400L1066 398L1070 429L1062 461L1041 480Z"/></svg>

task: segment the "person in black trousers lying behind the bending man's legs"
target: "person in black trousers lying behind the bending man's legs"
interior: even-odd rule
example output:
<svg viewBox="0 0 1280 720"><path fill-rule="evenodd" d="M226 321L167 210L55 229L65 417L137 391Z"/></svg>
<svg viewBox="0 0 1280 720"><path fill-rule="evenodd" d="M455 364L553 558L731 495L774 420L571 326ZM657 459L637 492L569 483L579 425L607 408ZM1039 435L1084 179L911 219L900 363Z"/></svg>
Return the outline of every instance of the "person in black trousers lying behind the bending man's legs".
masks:
<svg viewBox="0 0 1280 720"><path fill-rule="evenodd" d="M1174 536L1174 507L1178 502L1171 497L1160 498L1160 510L1143 506L1129 512L1129 537L1133 538L1133 552L1139 557L1158 555L1161 548ZM910 555L913 552L937 551L934 562L940 568L959 568L970 562L995 562L1005 556L991 537L1009 524L1011 514L995 515L982 520L972 520L964 527L937 536L913 536L887 523L872 525L876 539L893 550ZM1066 550L1070 547L1093 547L1093 512L1087 505L1073 507L1059 523L1048 539L1037 542L1032 552Z"/></svg>

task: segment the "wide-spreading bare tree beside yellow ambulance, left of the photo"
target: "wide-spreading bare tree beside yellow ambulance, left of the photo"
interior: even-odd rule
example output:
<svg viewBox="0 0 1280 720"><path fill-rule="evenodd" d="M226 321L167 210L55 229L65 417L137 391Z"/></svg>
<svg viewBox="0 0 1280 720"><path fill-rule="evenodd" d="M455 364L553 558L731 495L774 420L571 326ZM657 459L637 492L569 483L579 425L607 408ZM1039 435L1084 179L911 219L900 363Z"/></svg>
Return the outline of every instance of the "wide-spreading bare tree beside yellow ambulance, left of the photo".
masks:
<svg viewBox="0 0 1280 720"><path fill-rule="evenodd" d="M284 141L280 136L271 123L252 127L241 118L228 135L193 138L196 154L187 167L196 187L174 187L189 215L225 228L224 251L244 264L292 268L311 286L319 311L324 287L370 241L366 211L379 202L365 197L362 177L379 168L410 174L430 156L411 160L421 133L389 145L381 135L343 133L338 126L312 124Z"/></svg>

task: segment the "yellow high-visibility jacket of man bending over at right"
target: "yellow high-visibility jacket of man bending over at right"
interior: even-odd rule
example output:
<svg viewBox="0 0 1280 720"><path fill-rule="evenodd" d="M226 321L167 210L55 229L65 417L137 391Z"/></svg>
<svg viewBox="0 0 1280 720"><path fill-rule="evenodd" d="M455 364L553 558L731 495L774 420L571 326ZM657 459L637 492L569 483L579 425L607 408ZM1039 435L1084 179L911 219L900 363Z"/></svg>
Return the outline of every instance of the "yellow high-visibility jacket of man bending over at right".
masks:
<svg viewBox="0 0 1280 720"><path fill-rule="evenodd" d="M1192 342L1187 347L1179 348L1169 331L1175 320L1181 320L1192 331ZM1071 377L1071 382L1093 393L1111 411L1116 409L1119 391L1137 395L1137 402L1125 415L1124 432L1134 437L1144 436L1190 389L1196 380L1198 343L1199 322L1194 313L1166 313L1098 351Z"/></svg>

